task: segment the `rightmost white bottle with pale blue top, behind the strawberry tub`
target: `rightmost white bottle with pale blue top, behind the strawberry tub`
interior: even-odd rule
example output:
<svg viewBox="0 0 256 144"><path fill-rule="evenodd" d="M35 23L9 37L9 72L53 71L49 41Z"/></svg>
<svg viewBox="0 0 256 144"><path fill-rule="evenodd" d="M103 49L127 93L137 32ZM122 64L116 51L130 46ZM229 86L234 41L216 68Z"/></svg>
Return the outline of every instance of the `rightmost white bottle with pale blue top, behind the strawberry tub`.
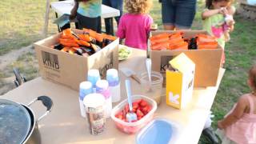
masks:
<svg viewBox="0 0 256 144"><path fill-rule="evenodd" d="M119 102L120 96L120 80L118 77L118 70L109 69L106 71L106 80L109 82L110 94L112 96L112 102Z"/></svg>

